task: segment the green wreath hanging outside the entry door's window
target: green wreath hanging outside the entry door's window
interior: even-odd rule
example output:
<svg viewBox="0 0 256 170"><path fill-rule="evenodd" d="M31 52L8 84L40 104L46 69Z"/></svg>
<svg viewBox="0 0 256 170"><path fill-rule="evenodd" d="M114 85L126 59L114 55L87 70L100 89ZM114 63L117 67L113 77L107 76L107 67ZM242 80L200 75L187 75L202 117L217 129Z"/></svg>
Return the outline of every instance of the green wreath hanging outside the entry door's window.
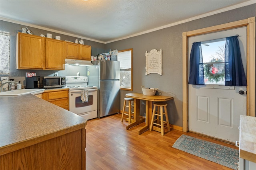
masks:
<svg viewBox="0 0 256 170"><path fill-rule="evenodd" d="M205 64L204 66L204 78L209 82L220 82L224 80L225 74L218 73L218 69L214 67L214 64Z"/></svg>

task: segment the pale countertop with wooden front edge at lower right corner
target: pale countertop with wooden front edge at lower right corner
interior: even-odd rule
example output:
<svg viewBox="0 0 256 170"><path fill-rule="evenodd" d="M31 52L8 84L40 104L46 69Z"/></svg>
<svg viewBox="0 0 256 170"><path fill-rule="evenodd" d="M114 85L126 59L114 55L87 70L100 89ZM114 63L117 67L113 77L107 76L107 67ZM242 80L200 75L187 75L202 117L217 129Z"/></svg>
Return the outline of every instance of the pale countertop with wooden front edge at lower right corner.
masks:
<svg viewBox="0 0 256 170"><path fill-rule="evenodd" d="M240 158L256 163L256 117L240 116Z"/></svg>

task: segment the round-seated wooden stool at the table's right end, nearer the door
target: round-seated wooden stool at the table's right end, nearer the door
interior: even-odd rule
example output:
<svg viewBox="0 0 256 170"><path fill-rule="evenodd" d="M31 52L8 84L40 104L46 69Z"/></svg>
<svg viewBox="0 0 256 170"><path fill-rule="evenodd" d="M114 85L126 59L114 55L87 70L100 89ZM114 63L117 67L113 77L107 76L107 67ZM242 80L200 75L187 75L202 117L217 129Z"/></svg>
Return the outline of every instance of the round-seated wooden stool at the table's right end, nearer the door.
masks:
<svg viewBox="0 0 256 170"><path fill-rule="evenodd" d="M160 103L160 102L154 103L154 109L152 113L150 129L149 129L150 131L152 131L153 129L154 131L161 132L161 135L164 135L164 124L167 125L167 129L168 131L170 131L170 124L169 124L166 106L167 104L165 103ZM157 111L156 111L156 107L157 107ZM163 112L163 108L165 112ZM155 115L156 115L156 119L154 119ZM164 121L164 115L165 115L166 121Z"/></svg>

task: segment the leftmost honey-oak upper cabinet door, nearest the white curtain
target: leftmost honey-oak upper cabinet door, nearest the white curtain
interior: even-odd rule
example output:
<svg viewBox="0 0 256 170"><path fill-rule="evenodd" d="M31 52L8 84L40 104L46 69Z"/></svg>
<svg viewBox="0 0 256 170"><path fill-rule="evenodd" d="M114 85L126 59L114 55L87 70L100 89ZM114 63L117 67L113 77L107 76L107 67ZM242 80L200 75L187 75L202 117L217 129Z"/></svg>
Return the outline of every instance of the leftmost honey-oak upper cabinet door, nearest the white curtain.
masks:
<svg viewBox="0 0 256 170"><path fill-rule="evenodd" d="M17 69L44 68L44 39L26 33L17 34Z"/></svg>

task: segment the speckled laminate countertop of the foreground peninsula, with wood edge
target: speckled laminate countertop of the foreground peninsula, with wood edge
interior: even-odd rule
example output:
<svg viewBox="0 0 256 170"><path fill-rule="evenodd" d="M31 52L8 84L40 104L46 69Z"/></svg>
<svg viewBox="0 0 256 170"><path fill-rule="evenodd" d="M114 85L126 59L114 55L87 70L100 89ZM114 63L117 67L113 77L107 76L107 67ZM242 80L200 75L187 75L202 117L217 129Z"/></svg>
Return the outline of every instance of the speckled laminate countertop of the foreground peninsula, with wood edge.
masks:
<svg viewBox="0 0 256 170"><path fill-rule="evenodd" d="M1 155L87 125L83 117L32 94L1 96L0 117Z"/></svg>

